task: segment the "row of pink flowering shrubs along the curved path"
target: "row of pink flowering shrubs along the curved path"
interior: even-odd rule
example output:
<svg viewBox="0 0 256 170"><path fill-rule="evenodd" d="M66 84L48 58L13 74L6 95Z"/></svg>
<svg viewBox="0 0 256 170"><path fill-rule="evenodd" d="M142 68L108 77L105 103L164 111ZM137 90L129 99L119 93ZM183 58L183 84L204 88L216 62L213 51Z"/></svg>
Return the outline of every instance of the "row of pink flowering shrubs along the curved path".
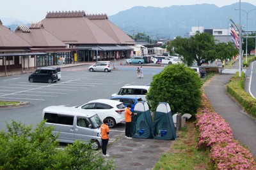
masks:
<svg viewBox="0 0 256 170"><path fill-rule="evenodd" d="M232 129L214 112L205 94L202 108L196 114L196 127L200 132L197 147L209 147L209 157L216 169L256 169L252 153L233 138Z"/></svg>

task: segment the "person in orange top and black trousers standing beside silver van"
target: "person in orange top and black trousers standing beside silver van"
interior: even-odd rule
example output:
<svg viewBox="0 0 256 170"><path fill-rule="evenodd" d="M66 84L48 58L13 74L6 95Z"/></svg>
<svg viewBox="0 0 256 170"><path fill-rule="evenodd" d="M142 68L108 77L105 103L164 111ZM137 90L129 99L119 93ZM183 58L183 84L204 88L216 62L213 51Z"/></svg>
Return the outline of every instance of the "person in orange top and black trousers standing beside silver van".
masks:
<svg viewBox="0 0 256 170"><path fill-rule="evenodd" d="M103 157L109 157L107 154L107 146L109 140L109 127L108 127L108 119L104 118L103 124L100 125L101 139L102 139L102 153Z"/></svg>

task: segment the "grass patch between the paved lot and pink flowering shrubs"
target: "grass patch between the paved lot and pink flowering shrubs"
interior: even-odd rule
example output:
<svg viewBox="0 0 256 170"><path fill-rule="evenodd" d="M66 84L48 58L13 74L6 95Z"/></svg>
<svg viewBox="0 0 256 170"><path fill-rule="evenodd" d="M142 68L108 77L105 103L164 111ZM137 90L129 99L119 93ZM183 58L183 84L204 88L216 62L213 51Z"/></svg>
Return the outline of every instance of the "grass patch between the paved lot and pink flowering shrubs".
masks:
<svg viewBox="0 0 256 170"><path fill-rule="evenodd" d="M170 150L161 155L154 169L214 169L209 162L209 150L206 148L196 149L198 143L198 132L195 124L188 122L187 126L177 131L175 143Z"/></svg>

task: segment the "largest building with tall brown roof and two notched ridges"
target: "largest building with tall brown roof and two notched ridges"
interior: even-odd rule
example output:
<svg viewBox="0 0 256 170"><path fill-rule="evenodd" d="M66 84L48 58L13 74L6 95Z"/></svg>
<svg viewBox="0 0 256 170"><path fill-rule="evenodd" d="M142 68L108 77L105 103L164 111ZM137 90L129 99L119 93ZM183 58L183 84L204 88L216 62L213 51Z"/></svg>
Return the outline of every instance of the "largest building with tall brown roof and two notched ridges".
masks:
<svg viewBox="0 0 256 170"><path fill-rule="evenodd" d="M92 61L130 57L128 45L135 41L108 20L107 15L86 15L84 11L49 12L42 20L45 30L67 46L78 49L78 59Z"/></svg>

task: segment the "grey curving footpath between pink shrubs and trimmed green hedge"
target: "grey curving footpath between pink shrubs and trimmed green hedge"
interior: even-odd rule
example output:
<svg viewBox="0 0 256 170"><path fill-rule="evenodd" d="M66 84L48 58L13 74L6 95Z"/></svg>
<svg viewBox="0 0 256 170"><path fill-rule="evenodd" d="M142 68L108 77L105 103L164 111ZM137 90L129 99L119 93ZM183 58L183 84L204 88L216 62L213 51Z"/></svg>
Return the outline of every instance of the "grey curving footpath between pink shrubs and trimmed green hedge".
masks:
<svg viewBox="0 0 256 170"><path fill-rule="evenodd" d="M239 62L232 67L238 69ZM240 104L227 94L225 85L233 75L217 74L204 86L204 91L214 111L219 113L230 125L234 139L248 147L256 157L256 118L247 115Z"/></svg>

